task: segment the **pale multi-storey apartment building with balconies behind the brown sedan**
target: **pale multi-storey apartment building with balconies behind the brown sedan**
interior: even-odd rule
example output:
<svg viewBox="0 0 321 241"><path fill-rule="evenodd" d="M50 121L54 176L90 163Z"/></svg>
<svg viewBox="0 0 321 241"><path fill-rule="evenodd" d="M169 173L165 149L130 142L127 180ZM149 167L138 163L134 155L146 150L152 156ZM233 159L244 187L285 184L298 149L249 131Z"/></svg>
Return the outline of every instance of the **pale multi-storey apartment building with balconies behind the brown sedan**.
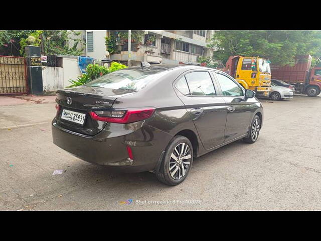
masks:
<svg viewBox="0 0 321 241"><path fill-rule="evenodd" d="M206 45L214 30L139 30L131 31L131 65L196 64L200 56L209 57L213 49ZM105 38L113 37L115 48L110 59L127 64L128 30L86 30L86 56L105 58Z"/></svg>

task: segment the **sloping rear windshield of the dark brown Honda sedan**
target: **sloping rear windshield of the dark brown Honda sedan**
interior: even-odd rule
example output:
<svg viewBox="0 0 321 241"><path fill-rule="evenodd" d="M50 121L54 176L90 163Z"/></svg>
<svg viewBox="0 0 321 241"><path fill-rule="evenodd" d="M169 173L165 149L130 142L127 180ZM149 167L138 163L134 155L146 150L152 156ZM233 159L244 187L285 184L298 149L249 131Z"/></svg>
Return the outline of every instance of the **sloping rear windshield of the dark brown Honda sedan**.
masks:
<svg viewBox="0 0 321 241"><path fill-rule="evenodd" d="M151 82L168 73L168 69L130 68L103 75L85 84L85 86L101 87L115 90L136 92Z"/></svg>

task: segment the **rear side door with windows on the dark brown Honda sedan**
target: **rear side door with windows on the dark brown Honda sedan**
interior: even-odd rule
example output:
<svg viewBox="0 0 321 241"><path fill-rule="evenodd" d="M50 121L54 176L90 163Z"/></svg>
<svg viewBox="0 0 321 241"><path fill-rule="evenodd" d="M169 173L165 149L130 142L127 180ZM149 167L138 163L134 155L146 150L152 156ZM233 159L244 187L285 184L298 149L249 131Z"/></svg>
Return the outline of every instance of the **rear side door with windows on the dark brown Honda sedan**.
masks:
<svg viewBox="0 0 321 241"><path fill-rule="evenodd" d="M204 148L222 144L227 109L223 97L216 96L210 72L189 72L182 76L175 86L184 94L179 97L193 119Z"/></svg>

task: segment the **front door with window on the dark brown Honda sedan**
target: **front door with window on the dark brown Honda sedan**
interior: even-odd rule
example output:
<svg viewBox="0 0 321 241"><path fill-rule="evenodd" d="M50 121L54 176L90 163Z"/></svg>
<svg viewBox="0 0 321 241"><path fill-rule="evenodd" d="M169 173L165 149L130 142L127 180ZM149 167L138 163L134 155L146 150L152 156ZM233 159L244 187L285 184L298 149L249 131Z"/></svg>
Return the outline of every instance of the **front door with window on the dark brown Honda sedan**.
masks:
<svg viewBox="0 0 321 241"><path fill-rule="evenodd" d="M222 73L215 73L215 76L227 104L224 132L224 141L227 142L248 132L255 106L250 99L244 98L244 90L235 80Z"/></svg>

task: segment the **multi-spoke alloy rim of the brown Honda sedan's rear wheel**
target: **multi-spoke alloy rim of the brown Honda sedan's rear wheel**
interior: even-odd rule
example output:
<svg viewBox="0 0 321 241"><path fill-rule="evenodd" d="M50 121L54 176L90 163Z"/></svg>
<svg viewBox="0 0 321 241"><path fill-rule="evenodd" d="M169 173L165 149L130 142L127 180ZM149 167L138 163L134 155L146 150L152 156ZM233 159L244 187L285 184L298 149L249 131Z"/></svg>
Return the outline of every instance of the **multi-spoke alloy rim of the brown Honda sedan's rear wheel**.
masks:
<svg viewBox="0 0 321 241"><path fill-rule="evenodd" d="M174 148L169 162L169 170L171 177L179 180L185 176L190 168L191 150L186 143L180 143Z"/></svg>

